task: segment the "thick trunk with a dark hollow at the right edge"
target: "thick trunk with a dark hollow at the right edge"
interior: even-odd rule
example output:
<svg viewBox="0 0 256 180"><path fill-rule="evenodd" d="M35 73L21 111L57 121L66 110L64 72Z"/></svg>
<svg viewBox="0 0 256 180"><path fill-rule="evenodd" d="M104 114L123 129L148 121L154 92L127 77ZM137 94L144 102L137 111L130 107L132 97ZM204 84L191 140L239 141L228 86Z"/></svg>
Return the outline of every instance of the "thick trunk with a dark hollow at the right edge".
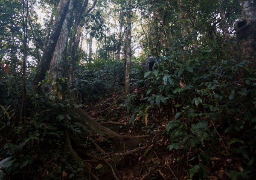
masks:
<svg viewBox="0 0 256 180"><path fill-rule="evenodd" d="M247 59L256 66L256 0L240 0L241 20L236 24L241 60Z"/></svg>

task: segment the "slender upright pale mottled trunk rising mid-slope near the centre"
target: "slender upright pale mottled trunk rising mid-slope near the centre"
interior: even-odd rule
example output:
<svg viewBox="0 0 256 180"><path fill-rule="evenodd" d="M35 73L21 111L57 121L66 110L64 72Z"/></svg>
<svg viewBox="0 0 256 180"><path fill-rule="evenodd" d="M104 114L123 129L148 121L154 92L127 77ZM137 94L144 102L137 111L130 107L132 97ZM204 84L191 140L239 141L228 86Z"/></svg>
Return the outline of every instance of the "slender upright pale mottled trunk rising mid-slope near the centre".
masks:
<svg viewBox="0 0 256 180"><path fill-rule="evenodd" d="M131 0L126 0L126 63L125 63L125 96L130 94L131 69Z"/></svg>

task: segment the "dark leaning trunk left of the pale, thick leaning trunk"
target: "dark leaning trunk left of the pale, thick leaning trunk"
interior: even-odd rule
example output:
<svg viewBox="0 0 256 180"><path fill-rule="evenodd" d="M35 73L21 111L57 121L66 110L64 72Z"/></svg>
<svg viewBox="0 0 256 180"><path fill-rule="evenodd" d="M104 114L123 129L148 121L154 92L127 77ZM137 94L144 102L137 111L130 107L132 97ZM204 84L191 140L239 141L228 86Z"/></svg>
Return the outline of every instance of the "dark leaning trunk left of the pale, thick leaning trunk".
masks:
<svg viewBox="0 0 256 180"><path fill-rule="evenodd" d="M61 2L61 8L58 13L56 23L54 25L54 28L52 29L52 34L49 37L49 40L44 50L41 61L38 64L38 71L35 74L35 79L34 79L35 90L37 89L38 82L44 79L45 73L49 69L50 61L52 59L52 54L58 42L58 37L60 35L65 16L67 14L69 3L70 3L70 0L62 0Z"/></svg>

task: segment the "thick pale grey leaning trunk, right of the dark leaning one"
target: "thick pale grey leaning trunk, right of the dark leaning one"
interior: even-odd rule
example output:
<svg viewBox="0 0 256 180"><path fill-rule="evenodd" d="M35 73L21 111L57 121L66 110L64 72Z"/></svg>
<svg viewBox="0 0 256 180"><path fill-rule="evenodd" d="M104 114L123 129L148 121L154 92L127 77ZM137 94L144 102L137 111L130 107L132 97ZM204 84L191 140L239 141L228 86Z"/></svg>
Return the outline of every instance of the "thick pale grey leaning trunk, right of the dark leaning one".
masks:
<svg viewBox="0 0 256 180"><path fill-rule="evenodd" d="M58 42L55 47L55 51L52 56L52 60L50 63L50 74L52 80L57 81L64 76L67 76L65 72L67 72L67 40L69 37L69 30L72 22L72 14L73 14L73 0L70 0L67 14L65 20L63 22L61 28L61 34L58 38ZM66 63L66 64L65 64Z"/></svg>

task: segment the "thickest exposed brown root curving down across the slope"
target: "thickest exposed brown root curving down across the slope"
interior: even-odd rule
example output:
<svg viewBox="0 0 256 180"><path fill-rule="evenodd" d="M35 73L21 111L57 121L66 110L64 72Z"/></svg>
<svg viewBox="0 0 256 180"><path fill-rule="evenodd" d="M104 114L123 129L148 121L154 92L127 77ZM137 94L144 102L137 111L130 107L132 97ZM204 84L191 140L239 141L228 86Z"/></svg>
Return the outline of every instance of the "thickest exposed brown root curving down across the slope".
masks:
<svg viewBox="0 0 256 180"><path fill-rule="evenodd" d="M84 112L83 109L80 107L75 108L76 112L79 114L80 118L75 118L75 120L84 126L88 126L90 129L92 129L94 132L105 134L108 137L114 139L113 142L116 145L116 149L121 150L121 148L124 149L131 149L136 146L145 138L150 137L149 135L143 135L143 136L127 136L127 135L120 135L116 133L115 131L112 131L104 126L102 126L100 123L97 123L95 120L93 120L92 117L90 117L88 114Z"/></svg>

